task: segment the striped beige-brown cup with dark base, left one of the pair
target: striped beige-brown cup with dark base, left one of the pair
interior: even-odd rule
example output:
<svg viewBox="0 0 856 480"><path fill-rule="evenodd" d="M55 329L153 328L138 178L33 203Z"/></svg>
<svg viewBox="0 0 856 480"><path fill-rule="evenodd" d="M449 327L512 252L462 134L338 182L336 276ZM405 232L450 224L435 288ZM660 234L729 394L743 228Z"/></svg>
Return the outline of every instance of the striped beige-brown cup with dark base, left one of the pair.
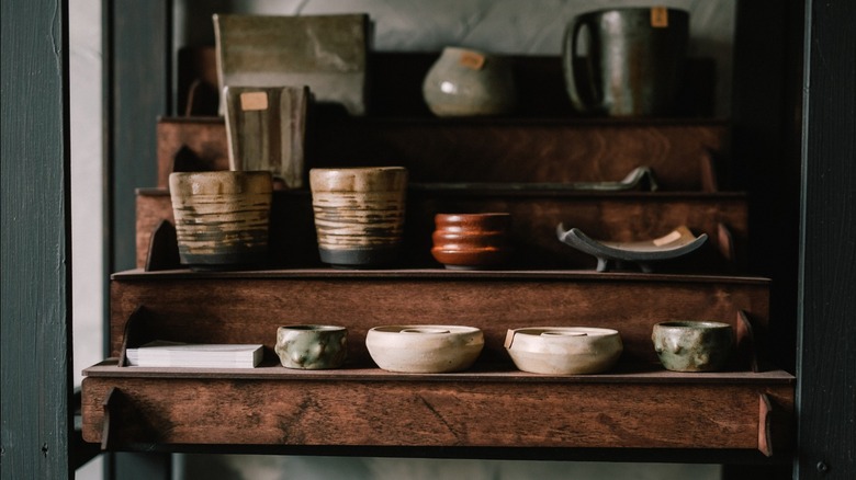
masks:
<svg viewBox="0 0 856 480"><path fill-rule="evenodd" d="M181 263L194 270L262 264L268 254L270 172L174 172L169 192Z"/></svg>

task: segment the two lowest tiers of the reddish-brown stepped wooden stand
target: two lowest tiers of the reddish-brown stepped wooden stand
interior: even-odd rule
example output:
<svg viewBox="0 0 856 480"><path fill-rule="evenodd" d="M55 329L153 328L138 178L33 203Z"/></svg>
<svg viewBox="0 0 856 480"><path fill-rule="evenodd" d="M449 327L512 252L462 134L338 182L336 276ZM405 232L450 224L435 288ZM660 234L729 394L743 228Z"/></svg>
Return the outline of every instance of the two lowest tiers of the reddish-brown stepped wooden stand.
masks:
<svg viewBox="0 0 856 480"><path fill-rule="evenodd" d="M86 369L83 437L105 449L385 449L381 455L399 456L429 449L480 457L526 450L527 458L550 452L564 459L579 450L668 450L779 461L792 438L795 378L763 362L767 278L320 268L129 271L111 279L117 358L144 338L158 338L260 343L266 361L252 369L195 369L108 359ZM651 329L673 319L734 325L739 355L730 370L662 369ZM464 373L375 368L365 332L402 322L478 327L485 348ZM277 327L289 323L346 325L350 364L336 370L279 366L272 345ZM615 328L624 344L621 362L605 375L517 370L503 347L507 329L543 324ZM418 452L388 453L401 448ZM714 455L710 461L725 460Z"/></svg>

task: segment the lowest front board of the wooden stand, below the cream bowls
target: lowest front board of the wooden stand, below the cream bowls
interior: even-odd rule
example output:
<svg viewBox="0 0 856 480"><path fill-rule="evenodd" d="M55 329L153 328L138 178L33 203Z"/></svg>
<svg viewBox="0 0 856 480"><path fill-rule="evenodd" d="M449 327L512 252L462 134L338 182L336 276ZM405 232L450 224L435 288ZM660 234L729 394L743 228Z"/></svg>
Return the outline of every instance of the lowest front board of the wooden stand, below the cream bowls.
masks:
<svg viewBox="0 0 856 480"><path fill-rule="evenodd" d="M716 448L787 443L793 377L619 365L545 376L119 367L85 370L83 437L132 444Z"/></svg>

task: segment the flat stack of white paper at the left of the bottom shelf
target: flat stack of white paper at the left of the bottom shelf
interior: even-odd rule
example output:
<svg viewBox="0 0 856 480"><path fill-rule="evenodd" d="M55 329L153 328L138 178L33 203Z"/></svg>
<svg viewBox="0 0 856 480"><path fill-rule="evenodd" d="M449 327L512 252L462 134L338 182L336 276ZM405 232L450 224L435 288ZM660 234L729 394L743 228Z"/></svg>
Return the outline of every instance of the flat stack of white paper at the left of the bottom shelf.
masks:
<svg viewBox="0 0 856 480"><path fill-rule="evenodd" d="M264 355L262 345L191 344L155 341L127 348L131 366L185 368L254 368Z"/></svg>

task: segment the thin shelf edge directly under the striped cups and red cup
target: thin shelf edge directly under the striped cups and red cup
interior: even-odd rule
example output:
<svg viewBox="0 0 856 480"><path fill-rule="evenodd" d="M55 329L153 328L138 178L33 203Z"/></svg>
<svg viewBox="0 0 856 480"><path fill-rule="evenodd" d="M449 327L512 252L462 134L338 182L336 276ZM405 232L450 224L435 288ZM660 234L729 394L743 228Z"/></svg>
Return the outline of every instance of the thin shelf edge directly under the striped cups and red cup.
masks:
<svg viewBox="0 0 856 480"><path fill-rule="evenodd" d="M446 268L340 270L331 267L251 270L251 271L191 271L188 268L145 272L133 268L115 272L112 281L151 279L410 279L410 281L575 281L575 282L646 282L646 283L732 283L768 285L771 279L762 276L706 275L679 273L597 272L594 270L485 270L454 271Z"/></svg>

